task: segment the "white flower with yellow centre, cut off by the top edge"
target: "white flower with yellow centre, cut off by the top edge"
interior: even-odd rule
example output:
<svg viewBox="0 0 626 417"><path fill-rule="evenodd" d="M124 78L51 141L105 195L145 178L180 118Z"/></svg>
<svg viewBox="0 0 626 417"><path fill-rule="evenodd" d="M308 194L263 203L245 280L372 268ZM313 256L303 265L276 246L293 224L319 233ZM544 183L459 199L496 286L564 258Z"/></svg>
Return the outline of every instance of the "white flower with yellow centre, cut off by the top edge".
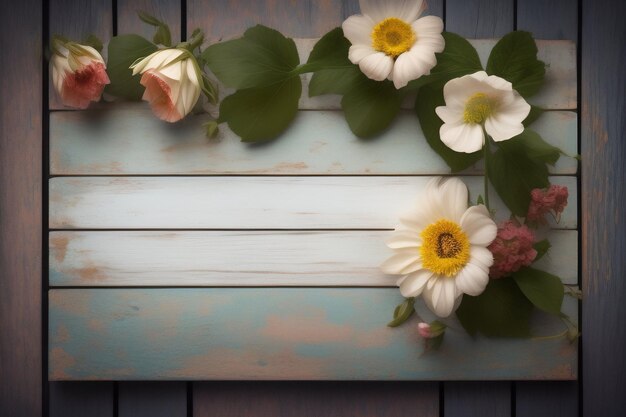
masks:
<svg viewBox="0 0 626 417"><path fill-rule="evenodd" d="M430 74L437 65L436 52L444 49L443 21L437 16L419 18L423 0L359 0L361 15L347 18L343 34L350 41L348 58L372 80L393 81L402 88Z"/></svg>

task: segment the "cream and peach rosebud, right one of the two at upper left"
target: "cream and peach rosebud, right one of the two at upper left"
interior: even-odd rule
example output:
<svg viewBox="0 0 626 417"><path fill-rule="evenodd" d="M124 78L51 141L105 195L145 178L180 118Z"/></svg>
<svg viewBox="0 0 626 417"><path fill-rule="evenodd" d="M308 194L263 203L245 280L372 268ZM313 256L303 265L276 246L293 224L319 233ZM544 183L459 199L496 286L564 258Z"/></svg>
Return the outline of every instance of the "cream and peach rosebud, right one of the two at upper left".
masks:
<svg viewBox="0 0 626 417"><path fill-rule="evenodd" d="M195 58L183 49L163 49L131 66L143 74L143 100L161 120L173 123L188 115L200 97L201 74Z"/></svg>

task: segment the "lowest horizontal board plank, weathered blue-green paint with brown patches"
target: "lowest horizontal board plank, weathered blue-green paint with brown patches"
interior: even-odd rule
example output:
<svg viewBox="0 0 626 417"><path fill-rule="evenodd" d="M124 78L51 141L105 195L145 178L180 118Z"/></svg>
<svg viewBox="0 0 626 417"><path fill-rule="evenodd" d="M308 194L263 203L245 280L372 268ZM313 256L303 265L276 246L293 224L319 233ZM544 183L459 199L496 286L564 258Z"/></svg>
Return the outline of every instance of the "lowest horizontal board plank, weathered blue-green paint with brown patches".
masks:
<svg viewBox="0 0 626 417"><path fill-rule="evenodd" d="M458 323L422 355L416 320L383 288L63 289L49 292L51 380L575 379L564 339L472 339ZM577 303L565 310L576 319ZM423 306L421 306L423 309ZM563 324L538 315L536 333Z"/></svg>

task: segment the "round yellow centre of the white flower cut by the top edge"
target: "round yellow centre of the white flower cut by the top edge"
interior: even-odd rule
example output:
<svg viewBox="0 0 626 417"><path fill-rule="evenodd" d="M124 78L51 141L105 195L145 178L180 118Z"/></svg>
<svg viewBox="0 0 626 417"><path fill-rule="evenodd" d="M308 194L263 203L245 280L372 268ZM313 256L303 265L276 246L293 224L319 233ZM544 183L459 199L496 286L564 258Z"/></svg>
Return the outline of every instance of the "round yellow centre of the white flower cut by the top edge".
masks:
<svg viewBox="0 0 626 417"><path fill-rule="evenodd" d="M411 25L396 17L383 20L372 30L372 47L394 58L411 49L415 39Z"/></svg>

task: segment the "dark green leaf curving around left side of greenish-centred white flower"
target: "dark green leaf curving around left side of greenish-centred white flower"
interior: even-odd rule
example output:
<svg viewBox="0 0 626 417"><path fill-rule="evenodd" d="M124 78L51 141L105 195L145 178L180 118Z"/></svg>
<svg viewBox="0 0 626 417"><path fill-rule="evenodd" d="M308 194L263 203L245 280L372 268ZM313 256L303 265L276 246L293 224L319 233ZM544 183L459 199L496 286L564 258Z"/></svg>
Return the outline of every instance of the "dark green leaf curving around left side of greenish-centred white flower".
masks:
<svg viewBox="0 0 626 417"><path fill-rule="evenodd" d="M439 136L439 129L443 121L435 113L437 106L445 105L443 90L440 86L426 85L420 88L415 100L415 112L420 122L426 141L435 152L443 158L452 172L462 171L482 157L482 152L462 153L448 148Z"/></svg>

